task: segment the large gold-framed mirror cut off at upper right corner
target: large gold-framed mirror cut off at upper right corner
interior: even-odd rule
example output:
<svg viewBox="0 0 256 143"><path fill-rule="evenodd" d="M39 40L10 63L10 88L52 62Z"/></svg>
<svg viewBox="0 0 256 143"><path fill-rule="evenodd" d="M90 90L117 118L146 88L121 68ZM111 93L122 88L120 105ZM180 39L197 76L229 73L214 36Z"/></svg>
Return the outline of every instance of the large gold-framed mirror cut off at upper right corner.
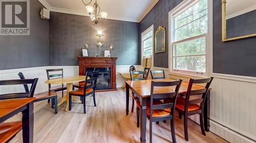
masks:
<svg viewBox="0 0 256 143"><path fill-rule="evenodd" d="M223 42L256 36L255 7L256 1L222 0Z"/></svg>

